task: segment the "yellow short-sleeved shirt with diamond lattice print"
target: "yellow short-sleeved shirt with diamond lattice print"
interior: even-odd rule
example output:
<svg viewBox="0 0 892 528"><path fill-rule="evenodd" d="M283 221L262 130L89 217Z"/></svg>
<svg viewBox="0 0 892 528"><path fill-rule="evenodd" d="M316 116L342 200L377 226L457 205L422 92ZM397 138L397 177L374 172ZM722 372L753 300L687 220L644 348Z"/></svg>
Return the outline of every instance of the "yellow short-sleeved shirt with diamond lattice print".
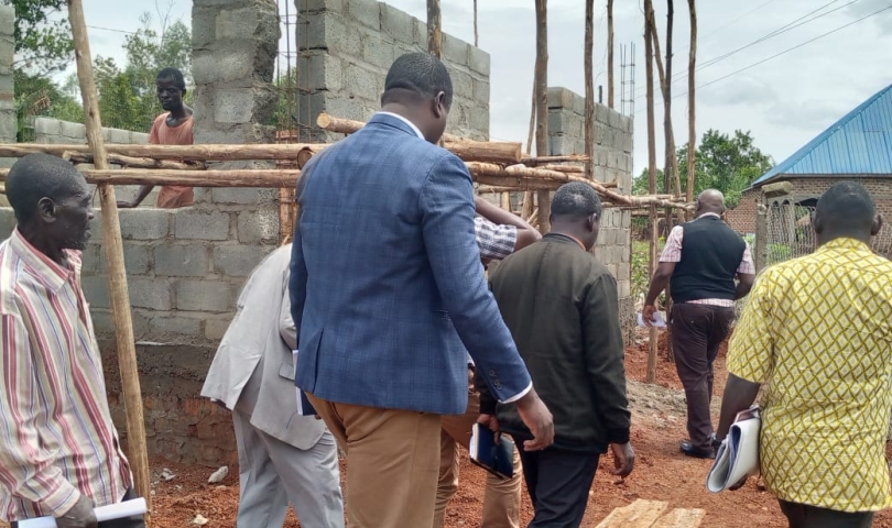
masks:
<svg viewBox="0 0 892 528"><path fill-rule="evenodd" d="M892 262L836 239L768 268L728 371L768 383L760 457L779 498L840 512L892 506Z"/></svg>

